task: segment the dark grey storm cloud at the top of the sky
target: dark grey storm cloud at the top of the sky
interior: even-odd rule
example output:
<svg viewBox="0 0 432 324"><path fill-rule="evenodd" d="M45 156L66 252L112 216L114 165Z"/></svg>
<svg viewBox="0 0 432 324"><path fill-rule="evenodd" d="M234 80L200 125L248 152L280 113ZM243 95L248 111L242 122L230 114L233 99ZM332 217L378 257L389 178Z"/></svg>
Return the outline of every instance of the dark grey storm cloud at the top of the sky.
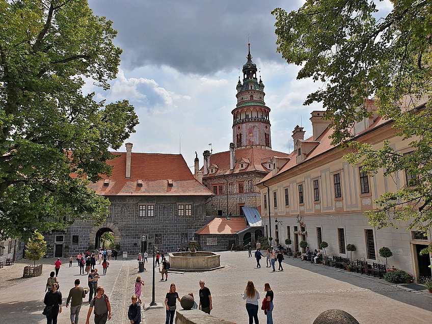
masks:
<svg viewBox="0 0 432 324"><path fill-rule="evenodd" d="M90 0L99 16L114 21L122 67L168 65L182 73L211 74L241 68L248 33L252 56L281 61L271 11L297 1ZM239 58L244 58L239 61ZM256 60L255 60L256 61Z"/></svg>

